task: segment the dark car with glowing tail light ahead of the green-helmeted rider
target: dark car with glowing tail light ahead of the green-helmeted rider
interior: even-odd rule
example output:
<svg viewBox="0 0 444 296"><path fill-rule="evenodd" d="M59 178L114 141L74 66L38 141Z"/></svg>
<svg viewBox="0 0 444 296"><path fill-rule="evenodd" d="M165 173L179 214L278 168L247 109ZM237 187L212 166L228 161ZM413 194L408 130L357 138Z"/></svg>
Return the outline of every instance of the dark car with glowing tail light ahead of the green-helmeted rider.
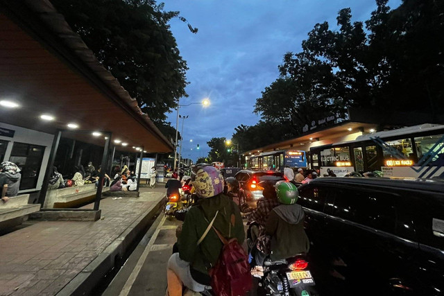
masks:
<svg viewBox="0 0 444 296"><path fill-rule="evenodd" d="M241 170L234 176L240 183L239 199L255 208L257 200L264 197L260 182L276 183L285 180L284 174L275 171Z"/></svg>

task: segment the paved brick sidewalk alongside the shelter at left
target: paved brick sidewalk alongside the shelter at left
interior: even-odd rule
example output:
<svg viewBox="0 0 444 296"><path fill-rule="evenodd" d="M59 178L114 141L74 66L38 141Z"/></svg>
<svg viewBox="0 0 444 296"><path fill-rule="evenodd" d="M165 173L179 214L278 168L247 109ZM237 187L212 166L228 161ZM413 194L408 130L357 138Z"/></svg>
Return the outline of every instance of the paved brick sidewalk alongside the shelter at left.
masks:
<svg viewBox="0 0 444 296"><path fill-rule="evenodd" d="M96 222L42 221L0 236L0 295L56 295L164 197L160 188L141 192L101 200Z"/></svg>

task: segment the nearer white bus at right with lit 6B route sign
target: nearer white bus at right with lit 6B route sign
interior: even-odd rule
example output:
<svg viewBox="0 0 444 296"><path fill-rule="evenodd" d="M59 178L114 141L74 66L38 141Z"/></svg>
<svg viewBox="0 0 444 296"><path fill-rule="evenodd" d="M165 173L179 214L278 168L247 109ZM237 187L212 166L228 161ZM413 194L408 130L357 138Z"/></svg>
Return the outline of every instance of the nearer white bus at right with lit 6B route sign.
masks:
<svg viewBox="0 0 444 296"><path fill-rule="evenodd" d="M310 148L310 162L320 176L327 170L382 171L384 177L444 177L444 125L423 124L364 134L355 141Z"/></svg>

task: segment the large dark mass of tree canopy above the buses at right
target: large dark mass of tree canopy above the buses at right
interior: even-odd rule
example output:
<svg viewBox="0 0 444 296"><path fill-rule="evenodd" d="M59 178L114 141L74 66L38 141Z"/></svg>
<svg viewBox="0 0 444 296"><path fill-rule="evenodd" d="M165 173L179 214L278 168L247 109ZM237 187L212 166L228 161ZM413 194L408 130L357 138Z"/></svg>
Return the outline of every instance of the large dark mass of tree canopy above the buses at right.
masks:
<svg viewBox="0 0 444 296"><path fill-rule="evenodd" d="M366 21L339 11L337 29L316 24L302 51L284 55L280 77L257 98L262 120L239 125L233 139L242 150L296 137L313 119L346 119L348 107L380 112L444 113L444 1L388 0ZM384 123L380 123L384 124ZM264 137L266 135L266 137Z"/></svg>

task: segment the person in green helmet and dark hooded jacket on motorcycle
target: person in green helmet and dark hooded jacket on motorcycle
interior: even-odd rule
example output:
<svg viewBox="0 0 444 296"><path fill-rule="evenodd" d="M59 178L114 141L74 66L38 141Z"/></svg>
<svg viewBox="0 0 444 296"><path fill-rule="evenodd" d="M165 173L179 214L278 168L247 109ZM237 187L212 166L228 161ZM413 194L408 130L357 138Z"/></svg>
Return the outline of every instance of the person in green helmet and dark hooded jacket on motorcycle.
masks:
<svg viewBox="0 0 444 296"><path fill-rule="evenodd" d="M269 237L262 250L255 250L256 271L262 269L266 256L272 261L287 259L309 250L309 239L304 230L305 214L298 200L298 189L291 182L279 181L275 191L280 205L274 207L265 225Z"/></svg>

